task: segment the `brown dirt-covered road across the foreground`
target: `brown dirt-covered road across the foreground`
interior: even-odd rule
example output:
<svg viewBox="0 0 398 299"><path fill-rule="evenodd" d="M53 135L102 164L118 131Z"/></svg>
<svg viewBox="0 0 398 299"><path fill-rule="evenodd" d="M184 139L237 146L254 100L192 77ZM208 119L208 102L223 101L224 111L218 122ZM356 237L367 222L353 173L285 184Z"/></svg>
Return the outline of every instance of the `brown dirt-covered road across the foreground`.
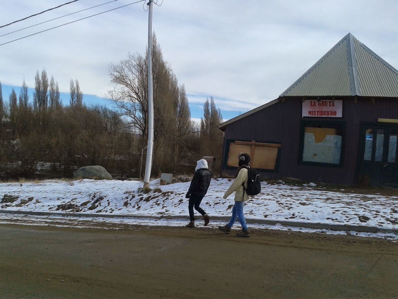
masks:
<svg viewBox="0 0 398 299"><path fill-rule="evenodd" d="M397 298L398 243L0 225L0 298Z"/></svg>

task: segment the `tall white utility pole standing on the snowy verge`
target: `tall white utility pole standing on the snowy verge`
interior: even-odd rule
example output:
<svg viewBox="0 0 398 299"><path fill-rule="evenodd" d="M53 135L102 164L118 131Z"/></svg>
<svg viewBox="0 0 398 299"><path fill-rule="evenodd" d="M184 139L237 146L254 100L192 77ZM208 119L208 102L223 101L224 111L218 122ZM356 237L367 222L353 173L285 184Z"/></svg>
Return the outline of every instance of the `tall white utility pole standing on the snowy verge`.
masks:
<svg viewBox="0 0 398 299"><path fill-rule="evenodd" d="M148 146L146 148L146 165L144 189L149 188L153 155L153 80L152 80L152 0L148 3Z"/></svg>

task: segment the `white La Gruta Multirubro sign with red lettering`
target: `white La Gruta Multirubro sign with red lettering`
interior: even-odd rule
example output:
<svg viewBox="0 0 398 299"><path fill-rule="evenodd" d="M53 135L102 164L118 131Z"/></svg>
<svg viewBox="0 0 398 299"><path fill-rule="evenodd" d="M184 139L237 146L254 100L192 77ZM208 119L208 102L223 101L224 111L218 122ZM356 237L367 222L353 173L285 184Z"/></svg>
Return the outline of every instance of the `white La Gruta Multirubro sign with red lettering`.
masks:
<svg viewBox="0 0 398 299"><path fill-rule="evenodd" d="M343 100L304 100L302 117L343 117Z"/></svg>

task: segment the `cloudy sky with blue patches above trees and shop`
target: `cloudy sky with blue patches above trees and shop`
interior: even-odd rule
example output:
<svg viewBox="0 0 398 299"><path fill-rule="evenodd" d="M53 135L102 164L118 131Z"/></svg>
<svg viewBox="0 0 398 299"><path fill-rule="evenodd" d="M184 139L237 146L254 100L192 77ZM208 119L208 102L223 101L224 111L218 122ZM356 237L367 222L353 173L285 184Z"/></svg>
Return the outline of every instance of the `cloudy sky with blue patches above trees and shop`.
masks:
<svg viewBox="0 0 398 299"><path fill-rule="evenodd" d="M0 26L65 2L2 1ZM104 2L79 0L0 28L0 35ZM117 0L2 36L0 43L132 2ZM61 92L77 78L85 99L100 101L88 94L101 97L111 88L108 64L145 51L143 3L0 46L4 98L10 86L18 93L24 78L34 87L36 71L45 68ZM396 0L164 0L154 6L152 28L164 59L185 84L193 118L203 115L207 96L215 98L224 120L277 98L348 32L398 68ZM68 104L67 94L62 98Z"/></svg>

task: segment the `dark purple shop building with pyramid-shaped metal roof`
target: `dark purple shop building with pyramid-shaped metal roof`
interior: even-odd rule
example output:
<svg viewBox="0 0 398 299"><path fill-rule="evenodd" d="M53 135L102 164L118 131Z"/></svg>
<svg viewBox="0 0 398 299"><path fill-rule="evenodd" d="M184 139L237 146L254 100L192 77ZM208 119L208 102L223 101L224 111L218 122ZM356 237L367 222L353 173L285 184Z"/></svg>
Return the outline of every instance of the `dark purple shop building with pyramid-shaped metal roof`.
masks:
<svg viewBox="0 0 398 299"><path fill-rule="evenodd" d="M351 33L277 99L218 128L221 175L246 152L264 177L398 187L398 71Z"/></svg>

